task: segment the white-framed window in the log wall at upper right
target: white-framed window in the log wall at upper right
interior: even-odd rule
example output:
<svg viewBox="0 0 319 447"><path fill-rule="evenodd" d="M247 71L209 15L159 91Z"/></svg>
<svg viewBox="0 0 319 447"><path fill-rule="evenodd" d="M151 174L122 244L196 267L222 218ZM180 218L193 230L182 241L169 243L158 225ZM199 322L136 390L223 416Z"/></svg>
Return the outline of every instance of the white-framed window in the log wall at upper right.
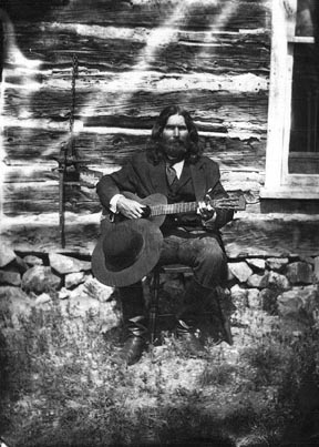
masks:
<svg viewBox="0 0 319 447"><path fill-rule="evenodd" d="M318 11L272 0L265 199L319 199Z"/></svg>

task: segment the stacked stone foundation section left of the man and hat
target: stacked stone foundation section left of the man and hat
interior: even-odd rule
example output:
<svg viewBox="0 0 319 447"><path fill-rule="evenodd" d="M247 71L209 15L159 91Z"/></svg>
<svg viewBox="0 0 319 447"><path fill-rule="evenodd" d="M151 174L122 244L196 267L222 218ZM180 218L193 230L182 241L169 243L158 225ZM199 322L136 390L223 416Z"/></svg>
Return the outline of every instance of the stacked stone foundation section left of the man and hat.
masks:
<svg viewBox="0 0 319 447"><path fill-rule="evenodd" d="M107 331L120 318L113 292L92 276L90 261L56 253L21 257L10 247L1 250L0 308L10 311L13 324L19 324L19 314L29 315L32 307L50 311L55 298L65 315L83 317L90 313Z"/></svg>

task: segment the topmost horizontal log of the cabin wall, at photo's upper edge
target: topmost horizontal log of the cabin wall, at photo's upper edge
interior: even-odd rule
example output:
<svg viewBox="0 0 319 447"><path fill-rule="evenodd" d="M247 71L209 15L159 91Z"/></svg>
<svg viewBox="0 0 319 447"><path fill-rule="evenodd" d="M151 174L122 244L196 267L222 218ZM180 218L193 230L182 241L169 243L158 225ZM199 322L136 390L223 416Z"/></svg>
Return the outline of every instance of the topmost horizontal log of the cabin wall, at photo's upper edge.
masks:
<svg viewBox="0 0 319 447"><path fill-rule="evenodd" d="M49 3L49 4L48 4ZM12 0L7 6L12 20L37 22L50 18L58 22L155 27L163 22L191 29L263 28L269 18L269 1L225 0L223 2L90 0L66 2ZM173 20L172 20L173 19Z"/></svg>

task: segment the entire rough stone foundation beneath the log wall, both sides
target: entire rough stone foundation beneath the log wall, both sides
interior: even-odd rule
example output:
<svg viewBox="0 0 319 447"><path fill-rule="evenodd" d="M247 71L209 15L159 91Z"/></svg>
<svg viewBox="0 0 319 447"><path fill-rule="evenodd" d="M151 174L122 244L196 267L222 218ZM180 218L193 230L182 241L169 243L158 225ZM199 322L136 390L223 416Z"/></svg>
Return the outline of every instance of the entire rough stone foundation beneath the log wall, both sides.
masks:
<svg viewBox="0 0 319 447"><path fill-rule="evenodd" d="M316 324L319 322L319 257L238 258L228 262L227 294L236 322L243 309L260 311ZM179 278L163 278L168 288ZM148 291L145 287L146 292ZM115 294L116 295L116 294ZM0 306L18 314L32 307L50 309L52 296L62 311L74 317L90 312L99 317L102 331L120 324L121 313L114 288L99 283L92 275L90 258L61 254L18 254L6 248L0 254ZM147 297L146 297L147 298ZM6 307L6 308L7 308ZM241 311L240 311L241 309Z"/></svg>

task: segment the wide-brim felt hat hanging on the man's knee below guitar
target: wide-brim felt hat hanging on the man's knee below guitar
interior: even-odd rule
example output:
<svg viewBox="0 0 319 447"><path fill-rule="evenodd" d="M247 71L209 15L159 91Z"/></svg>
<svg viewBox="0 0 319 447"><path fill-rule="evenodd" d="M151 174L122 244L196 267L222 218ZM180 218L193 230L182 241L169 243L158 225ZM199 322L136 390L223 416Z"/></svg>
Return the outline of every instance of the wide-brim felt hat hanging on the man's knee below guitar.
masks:
<svg viewBox="0 0 319 447"><path fill-rule="evenodd" d="M92 253L92 272L102 284L124 287L141 281L157 264L163 244L161 230L145 219L101 223Z"/></svg>

